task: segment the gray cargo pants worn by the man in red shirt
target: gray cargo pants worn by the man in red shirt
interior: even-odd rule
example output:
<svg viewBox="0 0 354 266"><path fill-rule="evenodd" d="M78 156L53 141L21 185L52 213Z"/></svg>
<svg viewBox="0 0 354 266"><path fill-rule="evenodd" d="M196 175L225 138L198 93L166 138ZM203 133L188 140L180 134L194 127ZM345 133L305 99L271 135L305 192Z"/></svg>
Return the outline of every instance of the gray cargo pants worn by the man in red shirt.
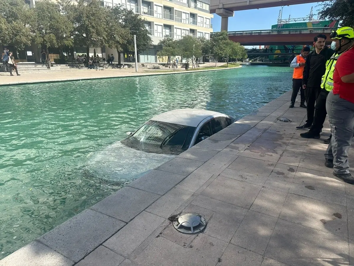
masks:
<svg viewBox="0 0 354 266"><path fill-rule="evenodd" d="M354 132L354 104L330 92L326 110L332 132L325 158L333 160L333 170L338 174L349 173L348 151Z"/></svg>

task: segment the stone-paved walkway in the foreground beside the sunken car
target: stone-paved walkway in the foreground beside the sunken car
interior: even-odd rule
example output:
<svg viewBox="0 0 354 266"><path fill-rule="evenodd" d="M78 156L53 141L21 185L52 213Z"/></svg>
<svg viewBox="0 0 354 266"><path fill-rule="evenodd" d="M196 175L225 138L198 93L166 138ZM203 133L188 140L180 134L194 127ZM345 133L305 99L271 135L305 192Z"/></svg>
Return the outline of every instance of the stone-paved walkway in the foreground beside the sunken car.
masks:
<svg viewBox="0 0 354 266"><path fill-rule="evenodd" d="M324 166L328 124L320 140L299 137L295 126L306 110L298 103L288 109L290 95L130 183L0 265L353 265L354 186ZM203 215L205 231L177 232L167 218L181 212Z"/></svg>

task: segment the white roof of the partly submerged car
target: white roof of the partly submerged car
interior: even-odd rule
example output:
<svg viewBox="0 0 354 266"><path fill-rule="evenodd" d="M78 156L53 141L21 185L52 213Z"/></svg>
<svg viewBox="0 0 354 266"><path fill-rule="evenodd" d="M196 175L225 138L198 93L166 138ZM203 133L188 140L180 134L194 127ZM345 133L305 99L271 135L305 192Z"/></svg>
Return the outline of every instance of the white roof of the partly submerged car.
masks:
<svg viewBox="0 0 354 266"><path fill-rule="evenodd" d="M201 109L176 109L161 113L160 115L151 118L151 120L179 124L182 126L197 127L201 121L210 116L229 117L228 115L215 111Z"/></svg>

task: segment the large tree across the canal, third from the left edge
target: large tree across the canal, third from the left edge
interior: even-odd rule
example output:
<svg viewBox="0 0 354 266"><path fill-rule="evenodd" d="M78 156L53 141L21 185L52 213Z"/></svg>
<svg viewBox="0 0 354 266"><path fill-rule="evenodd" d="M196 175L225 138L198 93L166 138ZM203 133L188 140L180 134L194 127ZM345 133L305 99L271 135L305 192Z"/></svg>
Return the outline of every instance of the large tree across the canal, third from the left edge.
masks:
<svg viewBox="0 0 354 266"><path fill-rule="evenodd" d="M74 25L74 43L86 45L86 60L89 61L90 47L104 46L107 40L107 12L98 0L70 0L60 2L62 12Z"/></svg>

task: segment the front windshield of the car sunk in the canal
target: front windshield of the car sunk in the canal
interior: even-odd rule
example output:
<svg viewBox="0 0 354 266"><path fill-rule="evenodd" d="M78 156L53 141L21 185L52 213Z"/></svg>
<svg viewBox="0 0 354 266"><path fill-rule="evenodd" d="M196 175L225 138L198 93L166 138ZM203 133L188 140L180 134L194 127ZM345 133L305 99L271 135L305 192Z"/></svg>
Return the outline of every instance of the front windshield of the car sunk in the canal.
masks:
<svg viewBox="0 0 354 266"><path fill-rule="evenodd" d="M189 148L195 127L150 120L121 142L148 153L177 155Z"/></svg>

